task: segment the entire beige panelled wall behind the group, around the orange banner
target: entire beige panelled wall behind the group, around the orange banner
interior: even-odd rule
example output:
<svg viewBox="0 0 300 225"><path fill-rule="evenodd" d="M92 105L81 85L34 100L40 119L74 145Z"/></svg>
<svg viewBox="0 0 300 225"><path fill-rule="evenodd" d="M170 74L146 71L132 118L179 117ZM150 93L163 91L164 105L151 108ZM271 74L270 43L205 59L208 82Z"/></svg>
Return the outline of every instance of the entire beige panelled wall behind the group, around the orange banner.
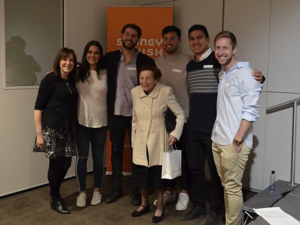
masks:
<svg viewBox="0 0 300 225"><path fill-rule="evenodd" d="M3 1L0 0L0 12ZM212 49L213 38L222 29L223 0L65 0L65 46L73 48L79 60L84 45L92 39L98 40L106 51L106 6L133 4L173 6L174 25L182 29L181 51L185 54L191 54L187 38L190 26L203 24L207 27ZM231 30L237 37L238 60L250 61L250 65L262 70L267 78L259 99L260 119L254 123L256 147L250 155L243 180L245 187L255 190L268 186L271 170L276 171L277 179L290 179L291 109L268 115L265 109L300 97L299 63L296 62L300 48L296 42L300 39L297 9L300 9L297 0L225 1L224 29ZM2 26L1 20L1 31ZM2 38L1 32L0 196L48 182L48 160L42 153L32 153L35 137L33 106L38 90L3 90ZM298 119L298 150L299 128ZM296 153L296 157L297 162L300 154ZM300 164L296 171L299 167ZM73 175L74 162L67 176ZM296 182L300 182L299 174L296 174Z"/></svg>

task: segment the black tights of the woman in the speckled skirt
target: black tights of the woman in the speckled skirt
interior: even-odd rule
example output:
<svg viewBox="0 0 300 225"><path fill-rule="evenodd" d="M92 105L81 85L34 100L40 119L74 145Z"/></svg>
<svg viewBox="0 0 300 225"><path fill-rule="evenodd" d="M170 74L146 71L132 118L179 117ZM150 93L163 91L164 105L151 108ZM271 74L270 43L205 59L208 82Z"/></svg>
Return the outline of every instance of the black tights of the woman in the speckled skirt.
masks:
<svg viewBox="0 0 300 225"><path fill-rule="evenodd" d="M60 197L59 188L71 166L72 157L60 156L49 159L48 181L53 198Z"/></svg>

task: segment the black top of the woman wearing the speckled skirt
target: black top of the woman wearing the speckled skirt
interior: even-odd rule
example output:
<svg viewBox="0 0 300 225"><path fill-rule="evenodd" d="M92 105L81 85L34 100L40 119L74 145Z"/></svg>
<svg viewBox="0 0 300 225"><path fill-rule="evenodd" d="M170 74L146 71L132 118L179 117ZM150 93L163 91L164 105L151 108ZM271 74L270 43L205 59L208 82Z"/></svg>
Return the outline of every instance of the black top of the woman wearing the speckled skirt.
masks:
<svg viewBox="0 0 300 225"><path fill-rule="evenodd" d="M75 131L77 99L74 81L64 80L55 73L47 74L41 81L35 101L35 110L42 110L42 125L50 125L58 131Z"/></svg>

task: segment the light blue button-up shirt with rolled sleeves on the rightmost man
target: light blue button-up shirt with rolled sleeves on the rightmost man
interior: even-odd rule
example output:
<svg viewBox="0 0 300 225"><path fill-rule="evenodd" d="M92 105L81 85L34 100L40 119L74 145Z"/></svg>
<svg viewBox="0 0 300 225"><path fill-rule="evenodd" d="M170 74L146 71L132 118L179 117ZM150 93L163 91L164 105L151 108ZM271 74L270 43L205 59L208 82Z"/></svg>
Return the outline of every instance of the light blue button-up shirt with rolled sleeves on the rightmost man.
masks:
<svg viewBox="0 0 300 225"><path fill-rule="evenodd" d="M258 119L258 98L262 85L253 79L249 62L235 63L227 73L222 67L217 96L217 118L211 140L219 145L232 143L241 120L254 122ZM244 136L245 144L252 149L253 126Z"/></svg>

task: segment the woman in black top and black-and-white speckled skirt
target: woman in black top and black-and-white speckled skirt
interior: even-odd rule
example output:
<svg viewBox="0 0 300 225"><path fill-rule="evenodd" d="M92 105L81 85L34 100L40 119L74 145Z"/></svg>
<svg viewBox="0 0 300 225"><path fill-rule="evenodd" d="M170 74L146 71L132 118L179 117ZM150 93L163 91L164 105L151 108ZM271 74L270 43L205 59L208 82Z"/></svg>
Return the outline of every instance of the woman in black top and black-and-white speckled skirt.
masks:
<svg viewBox="0 0 300 225"><path fill-rule="evenodd" d="M48 180L51 208L69 214L59 189L76 155L74 131L77 121L75 88L76 55L72 49L58 51L52 73L41 81L35 102L36 140L34 152L44 152L49 158Z"/></svg>

